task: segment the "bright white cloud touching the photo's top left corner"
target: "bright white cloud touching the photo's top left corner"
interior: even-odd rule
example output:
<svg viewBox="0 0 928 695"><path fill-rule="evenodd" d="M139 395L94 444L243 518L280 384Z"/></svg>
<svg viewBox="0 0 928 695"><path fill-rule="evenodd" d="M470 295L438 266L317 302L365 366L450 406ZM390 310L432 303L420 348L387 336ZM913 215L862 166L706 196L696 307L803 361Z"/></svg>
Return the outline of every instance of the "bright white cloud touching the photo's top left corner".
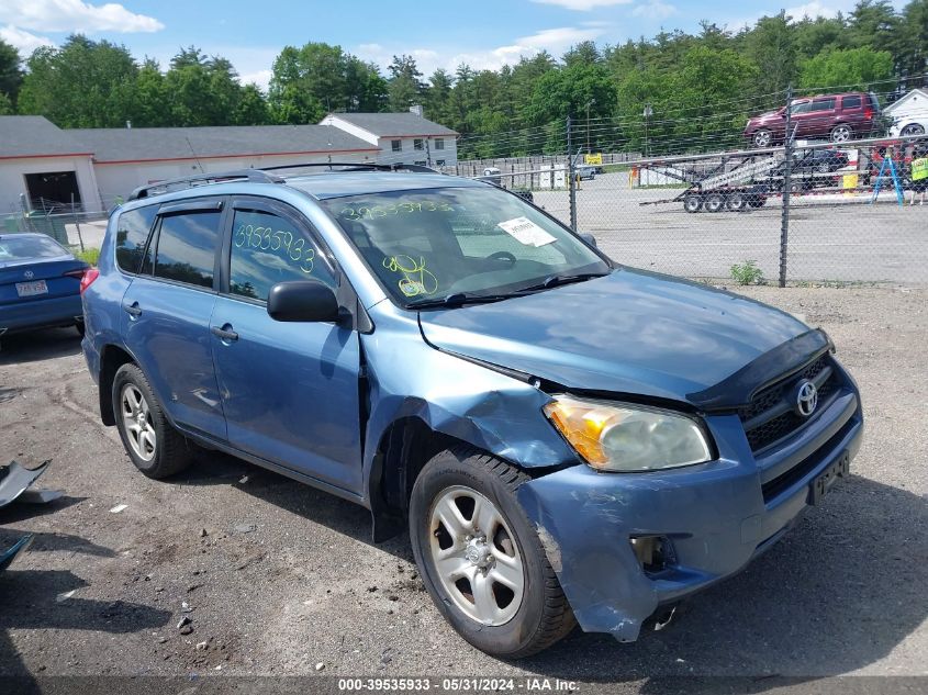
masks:
<svg viewBox="0 0 928 695"><path fill-rule="evenodd" d="M0 22L43 32L157 32L165 27L146 14L130 12L115 2L82 0L3 0Z"/></svg>

